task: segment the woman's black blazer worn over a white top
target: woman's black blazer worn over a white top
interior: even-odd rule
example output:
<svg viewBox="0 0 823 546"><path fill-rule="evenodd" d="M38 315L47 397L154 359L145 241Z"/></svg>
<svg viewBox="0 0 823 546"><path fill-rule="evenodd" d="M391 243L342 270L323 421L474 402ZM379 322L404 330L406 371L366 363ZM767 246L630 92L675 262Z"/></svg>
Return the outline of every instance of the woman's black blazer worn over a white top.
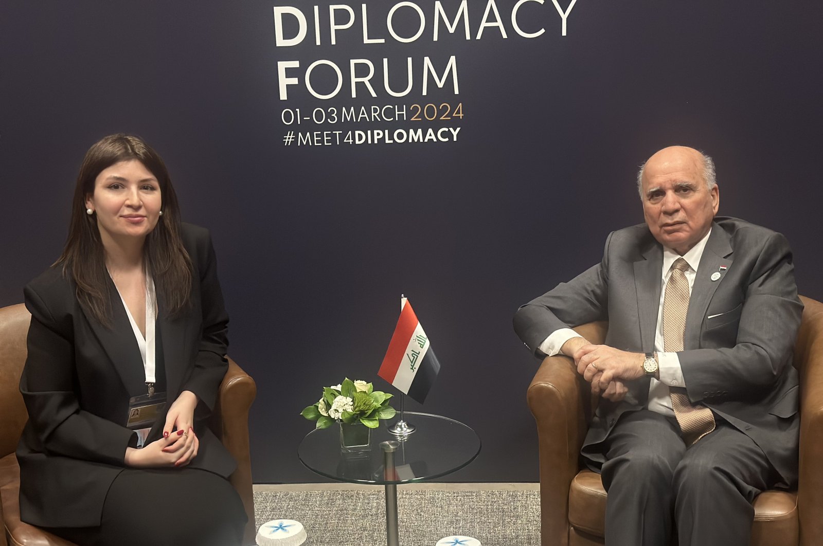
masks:
<svg viewBox="0 0 823 546"><path fill-rule="evenodd" d="M228 366L229 317L207 230L183 224L182 237L194 268L190 305L171 318L158 298L156 359L158 369L165 368L169 404L187 390L200 400L194 415L200 447L188 468L228 477L236 463L204 419ZM16 455L21 519L34 525L100 525L106 493L136 437L125 427L128 399L145 394L145 375L123 303L110 279L108 284L111 328L81 307L74 282L60 267L24 291L31 326L20 391L29 421ZM160 437L164 423L165 415L146 442Z"/></svg>

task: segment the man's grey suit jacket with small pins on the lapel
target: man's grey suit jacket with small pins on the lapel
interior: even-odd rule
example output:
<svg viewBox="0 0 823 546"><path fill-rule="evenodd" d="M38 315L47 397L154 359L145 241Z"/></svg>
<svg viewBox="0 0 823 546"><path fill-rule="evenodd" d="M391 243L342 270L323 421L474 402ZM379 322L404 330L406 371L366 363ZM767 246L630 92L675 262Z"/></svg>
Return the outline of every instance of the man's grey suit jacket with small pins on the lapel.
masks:
<svg viewBox="0 0 823 546"><path fill-rule="evenodd" d="M542 357L537 346L551 332L605 320L606 345L653 351L662 268L663 247L646 224L612 232L602 261L519 308L514 330ZM719 280L711 279L715 272ZM799 393L792 349L801 314L786 238L743 220L716 217L692 287L678 357L690 400L751 437L783 487L797 482ZM625 400L601 399L584 455L602 463L597 444L622 413L644 407L648 395L649 378L641 377L630 382Z"/></svg>

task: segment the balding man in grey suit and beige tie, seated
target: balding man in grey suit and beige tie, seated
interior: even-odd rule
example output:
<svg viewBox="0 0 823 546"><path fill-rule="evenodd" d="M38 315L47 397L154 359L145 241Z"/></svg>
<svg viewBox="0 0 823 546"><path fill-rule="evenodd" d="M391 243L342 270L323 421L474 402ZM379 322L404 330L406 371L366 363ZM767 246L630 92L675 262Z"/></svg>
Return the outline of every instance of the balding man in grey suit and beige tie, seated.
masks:
<svg viewBox="0 0 823 546"><path fill-rule="evenodd" d="M608 492L608 546L663 546L674 524L680 546L748 546L753 498L797 482L792 253L715 217L697 150L658 151L638 189L645 224L609 234L602 261L519 308L514 329L602 396L582 454ZM570 330L602 320L604 345Z"/></svg>

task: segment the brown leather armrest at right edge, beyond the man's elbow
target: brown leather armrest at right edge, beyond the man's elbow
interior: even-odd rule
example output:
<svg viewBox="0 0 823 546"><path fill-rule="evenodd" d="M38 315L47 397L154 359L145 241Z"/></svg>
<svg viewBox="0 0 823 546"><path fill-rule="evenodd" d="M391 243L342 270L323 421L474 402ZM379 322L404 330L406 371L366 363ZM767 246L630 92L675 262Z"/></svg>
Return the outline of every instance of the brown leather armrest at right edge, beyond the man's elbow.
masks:
<svg viewBox="0 0 823 546"><path fill-rule="evenodd" d="M820 544L823 536L823 305L805 300L797 352L804 363L800 391L800 462L797 509L800 544Z"/></svg>

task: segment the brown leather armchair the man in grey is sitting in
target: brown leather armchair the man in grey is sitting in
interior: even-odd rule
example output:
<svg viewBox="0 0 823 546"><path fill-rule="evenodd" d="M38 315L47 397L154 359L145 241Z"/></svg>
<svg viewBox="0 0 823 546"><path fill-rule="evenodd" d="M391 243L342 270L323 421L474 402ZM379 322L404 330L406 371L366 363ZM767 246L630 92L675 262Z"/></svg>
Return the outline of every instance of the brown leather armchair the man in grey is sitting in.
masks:
<svg viewBox="0 0 823 546"><path fill-rule="evenodd" d="M823 303L801 296L794 367L800 374L800 482L796 492L765 491L756 497L751 546L823 544ZM579 326L601 343L606 322ZM580 447L597 397L571 359L548 357L527 392L540 448L542 546L603 543L606 491L600 474L580 465Z"/></svg>

